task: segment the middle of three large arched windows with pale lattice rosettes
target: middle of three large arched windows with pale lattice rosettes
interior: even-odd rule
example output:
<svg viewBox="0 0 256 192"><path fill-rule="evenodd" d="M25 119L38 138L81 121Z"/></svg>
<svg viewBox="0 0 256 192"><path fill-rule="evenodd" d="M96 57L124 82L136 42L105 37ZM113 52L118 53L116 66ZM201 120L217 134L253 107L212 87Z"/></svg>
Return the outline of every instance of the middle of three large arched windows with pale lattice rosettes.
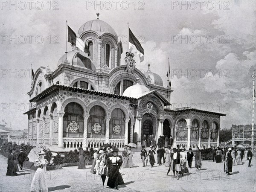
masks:
<svg viewBox="0 0 256 192"><path fill-rule="evenodd" d="M88 118L88 138L105 138L105 111L96 105L90 109Z"/></svg>

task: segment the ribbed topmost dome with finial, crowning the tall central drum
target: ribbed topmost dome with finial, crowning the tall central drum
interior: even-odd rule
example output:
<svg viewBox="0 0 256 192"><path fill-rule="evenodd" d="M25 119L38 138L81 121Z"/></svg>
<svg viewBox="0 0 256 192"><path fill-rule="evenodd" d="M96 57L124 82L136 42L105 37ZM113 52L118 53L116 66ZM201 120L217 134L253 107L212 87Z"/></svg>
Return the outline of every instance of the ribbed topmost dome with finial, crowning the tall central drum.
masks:
<svg viewBox="0 0 256 192"><path fill-rule="evenodd" d="M99 13L97 13L97 16L99 17ZM81 35L83 32L86 31L94 31L99 34L99 36L103 35L104 33L110 33L115 38L117 38L115 30L105 21L99 20L99 18L95 20L89 20L86 23L84 23L78 31L78 34Z"/></svg>

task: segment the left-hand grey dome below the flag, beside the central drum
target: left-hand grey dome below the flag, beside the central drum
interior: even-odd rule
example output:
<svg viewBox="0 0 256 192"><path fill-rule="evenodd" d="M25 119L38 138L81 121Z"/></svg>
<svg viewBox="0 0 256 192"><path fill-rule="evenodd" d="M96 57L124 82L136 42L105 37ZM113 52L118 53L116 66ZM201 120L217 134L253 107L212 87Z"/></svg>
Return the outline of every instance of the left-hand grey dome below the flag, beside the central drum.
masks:
<svg viewBox="0 0 256 192"><path fill-rule="evenodd" d="M57 67L64 61L66 61L66 54L61 56ZM78 50L67 52L67 62L74 67L81 67L84 69L96 71L96 67L93 64L93 61L90 60L85 52L79 52Z"/></svg>

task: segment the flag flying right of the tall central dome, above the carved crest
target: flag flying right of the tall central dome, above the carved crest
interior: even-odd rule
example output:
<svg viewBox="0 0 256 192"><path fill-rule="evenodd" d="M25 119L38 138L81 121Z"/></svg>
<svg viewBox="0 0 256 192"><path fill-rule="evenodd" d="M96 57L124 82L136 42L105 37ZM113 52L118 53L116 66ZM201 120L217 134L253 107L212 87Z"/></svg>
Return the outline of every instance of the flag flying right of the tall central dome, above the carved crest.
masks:
<svg viewBox="0 0 256 192"><path fill-rule="evenodd" d="M129 49L130 51L134 51L140 56L140 62L144 61L144 49L141 47L140 42L131 32L129 28Z"/></svg>

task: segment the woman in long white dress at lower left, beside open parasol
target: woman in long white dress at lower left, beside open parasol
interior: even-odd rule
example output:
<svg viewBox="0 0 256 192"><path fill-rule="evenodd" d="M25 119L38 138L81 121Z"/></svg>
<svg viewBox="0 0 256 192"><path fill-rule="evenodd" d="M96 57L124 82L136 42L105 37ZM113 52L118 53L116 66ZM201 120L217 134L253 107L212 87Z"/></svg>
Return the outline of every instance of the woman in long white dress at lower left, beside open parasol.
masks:
<svg viewBox="0 0 256 192"><path fill-rule="evenodd" d="M44 159L44 151L40 151L38 153L39 158L38 160L35 160L34 165L35 167L39 166L38 169L35 172L35 175L33 177L30 191L32 192L48 192L47 188L47 175L46 175L46 166L48 164L48 161Z"/></svg>

